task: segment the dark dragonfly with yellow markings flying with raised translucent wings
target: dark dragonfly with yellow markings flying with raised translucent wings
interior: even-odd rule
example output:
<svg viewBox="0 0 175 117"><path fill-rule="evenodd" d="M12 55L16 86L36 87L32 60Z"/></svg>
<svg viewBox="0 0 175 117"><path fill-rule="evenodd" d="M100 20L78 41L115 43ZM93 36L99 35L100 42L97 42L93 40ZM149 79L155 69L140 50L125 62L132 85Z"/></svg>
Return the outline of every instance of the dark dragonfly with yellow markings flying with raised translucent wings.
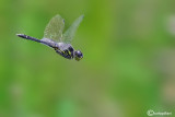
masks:
<svg viewBox="0 0 175 117"><path fill-rule="evenodd" d="M71 45L74 34L82 22L84 15L80 15L72 25L63 33L65 20L59 15L55 15L44 31L44 37L37 39L25 34L16 34L19 37L30 39L51 47L58 55L66 59L75 59L77 61L83 58L80 50L75 50Z"/></svg>

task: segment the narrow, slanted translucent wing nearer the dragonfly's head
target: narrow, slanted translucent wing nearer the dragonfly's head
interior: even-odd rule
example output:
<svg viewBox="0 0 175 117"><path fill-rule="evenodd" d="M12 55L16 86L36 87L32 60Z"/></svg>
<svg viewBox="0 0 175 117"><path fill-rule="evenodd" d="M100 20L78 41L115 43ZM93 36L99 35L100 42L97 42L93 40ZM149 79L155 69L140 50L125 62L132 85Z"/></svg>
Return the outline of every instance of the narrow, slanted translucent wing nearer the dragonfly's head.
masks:
<svg viewBox="0 0 175 117"><path fill-rule="evenodd" d="M75 31L78 30L80 23L82 22L84 15L79 16L72 25L65 32L63 37L61 38L63 43L70 44L73 39Z"/></svg>

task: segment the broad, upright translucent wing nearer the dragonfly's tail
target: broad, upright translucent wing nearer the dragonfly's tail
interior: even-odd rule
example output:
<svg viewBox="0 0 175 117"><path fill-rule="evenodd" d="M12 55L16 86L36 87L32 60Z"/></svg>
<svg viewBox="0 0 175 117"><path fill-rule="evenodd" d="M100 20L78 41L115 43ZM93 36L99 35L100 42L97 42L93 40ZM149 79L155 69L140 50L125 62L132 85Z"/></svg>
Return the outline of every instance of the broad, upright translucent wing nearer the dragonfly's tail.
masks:
<svg viewBox="0 0 175 117"><path fill-rule="evenodd" d="M63 27L65 27L65 21L59 14L57 14L47 24L44 32L44 38L49 38L56 42L60 42L62 37Z"/></svg>

